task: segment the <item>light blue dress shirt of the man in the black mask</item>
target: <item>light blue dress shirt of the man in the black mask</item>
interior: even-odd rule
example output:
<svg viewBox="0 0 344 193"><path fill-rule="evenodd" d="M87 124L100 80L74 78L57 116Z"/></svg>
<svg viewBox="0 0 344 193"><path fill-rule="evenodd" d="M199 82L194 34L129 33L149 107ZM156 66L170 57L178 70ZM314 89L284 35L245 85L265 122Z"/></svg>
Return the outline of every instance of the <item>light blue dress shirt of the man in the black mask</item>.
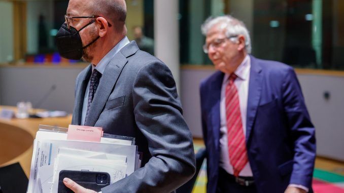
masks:
<svg viewBox="0 0 344 193"><path fill-rule="evenodd" d="M99 63L95 66L92 64L92 72L93 69L98 70L101 75L104 73L105 67L108 65L110 60L115 57L115 55L127 44L129 44L130 41L127 36L125 36L113 49L108 52L107 55L102 58ZM90 89L90 81L88 81L86 91L85 91L85 97L84 97L84 103L82 106L82 114L81 114L81 125L85 124L86 119L86 111L87 111L87 104L88 104L88 95L89 95L89 89Z"/></svg>

